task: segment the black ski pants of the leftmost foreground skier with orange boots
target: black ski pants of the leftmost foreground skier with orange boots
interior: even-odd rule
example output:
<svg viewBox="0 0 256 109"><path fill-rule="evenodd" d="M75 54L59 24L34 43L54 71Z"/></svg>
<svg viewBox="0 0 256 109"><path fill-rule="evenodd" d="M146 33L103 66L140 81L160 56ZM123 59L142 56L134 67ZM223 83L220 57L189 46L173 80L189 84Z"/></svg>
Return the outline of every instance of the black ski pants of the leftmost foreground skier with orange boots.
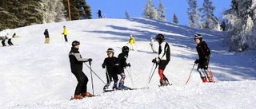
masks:
<svg viewBox="0 0 256 109"><path fill-rule="evenodd" d="M88 78L82 71L72 72L78 80L78 85L75 88L74 95L81 95L83 92L87 92Z"/></svg>

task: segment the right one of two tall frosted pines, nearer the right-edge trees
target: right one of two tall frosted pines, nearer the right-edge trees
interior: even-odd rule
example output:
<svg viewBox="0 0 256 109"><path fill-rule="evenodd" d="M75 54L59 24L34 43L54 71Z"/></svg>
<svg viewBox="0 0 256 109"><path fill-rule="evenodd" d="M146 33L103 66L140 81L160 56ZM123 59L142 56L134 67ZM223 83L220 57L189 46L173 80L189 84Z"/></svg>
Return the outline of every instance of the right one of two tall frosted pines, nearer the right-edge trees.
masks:
<svg viewBox="0 0 256 109"><path fill-rule="evenodd" d="M218 20L214 20L214 10L215 6L210 0L204 0L202 5L202 20L205 22L203 28L205 29L215 29L215 25L218 24Z"/></svg>

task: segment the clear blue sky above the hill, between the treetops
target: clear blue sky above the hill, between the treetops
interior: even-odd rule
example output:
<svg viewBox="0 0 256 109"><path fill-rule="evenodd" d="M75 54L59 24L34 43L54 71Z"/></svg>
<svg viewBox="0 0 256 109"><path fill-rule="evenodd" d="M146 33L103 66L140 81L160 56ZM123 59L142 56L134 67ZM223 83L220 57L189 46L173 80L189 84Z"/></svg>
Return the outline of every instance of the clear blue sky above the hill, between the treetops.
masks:
<svg viewBox="0 0 256 109"><path fill-rule="evenodd" d="M92 9L93 18L98 18L98 9L106 14L106 18L126 18L126 10L130 18L142 18L143 10L147 0L86 0ZM158 7L159 0L152 0L154 6ZM214 3L214 14L217 18L222 17L223 10L230 9L231 0L211 0ZM198 0L198 6L202 7L203 0ZM179 24L189 24L186 14L187 0L162 0L166 7L167 21L172 21L174 13L178 16Z"/></svg>

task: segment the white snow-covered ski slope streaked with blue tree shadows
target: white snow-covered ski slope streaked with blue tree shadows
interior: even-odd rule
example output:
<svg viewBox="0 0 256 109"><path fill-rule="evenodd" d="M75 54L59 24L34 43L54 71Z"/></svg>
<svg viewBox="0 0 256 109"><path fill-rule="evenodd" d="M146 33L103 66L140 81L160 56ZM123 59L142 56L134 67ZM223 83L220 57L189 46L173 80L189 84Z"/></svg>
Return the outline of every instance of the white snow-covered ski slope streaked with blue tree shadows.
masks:
<svg viewBox="0 0 256 109"><path fill-rule="evenodd" d="M66 43L62 27L69 30ZM44 44L44 29L49 29L50 44ZM44 25L31 25L9 29L0 33L17 33L14 46L0 48L0 108L255 108L256 57L254 52L228 53L221 32L191 29L162 21L143 18L92 19L66 21ZM170 44L171 60L165 75L172 86L158 88L158 73L148 83L151 60L158 54L151 53L150 37L158 33L166 36ZM194 68L185 85L194 60L194 33L202 33L212 57L210 69L216 83L202 84ZM127 45L130 34L136 40L136 51L131 51L127 62L126 86L145 88L133 91L102 93L103 82L93 75L93 98L70 101L77 81L70 72L68 53L71 42L80 41L80 53L93 59L92 69L106 82L101 64L106 49L113 48L115 56ZM155 42L155 49L158 44ZM90 69L83 71L90 79ZM128 73L129 72L129 73ZM130 75L129 75L130 74ZM134 83L134 84L132 84ZM92 92L91 80L88 91Z"/></svg>

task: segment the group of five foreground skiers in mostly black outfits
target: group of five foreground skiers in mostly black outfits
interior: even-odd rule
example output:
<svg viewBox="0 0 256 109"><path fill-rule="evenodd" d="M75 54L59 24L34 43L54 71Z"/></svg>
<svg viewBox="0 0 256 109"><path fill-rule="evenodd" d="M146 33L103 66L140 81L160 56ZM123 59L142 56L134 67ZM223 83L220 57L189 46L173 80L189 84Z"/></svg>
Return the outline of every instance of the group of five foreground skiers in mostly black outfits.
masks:
<svg viewBox="0 0 256 109"><path fill-rule="evenodd" d="M130 36L132 37L132 36ZM151 38L152 39L152 38ZM170 46L166 42L166 39L163 34L159 33L155 37L156 41L158 41L158 56L152 60L152 62L158 65L158 75L160 76L160 86L167 86L170 85L168 79L164 75L164 70L166 65L170 61ZM201 76L202 82L214 82L212 80L212 76L210 76L209 72L207 72L208 64L210 60L210 49L205 41L202 41L201 34L194 35L194 41L197 43L197 52L199 58L194 61L194 64L198 64L198 72ZM70 58L70 68L71 72L78 80L77 87L75 88L74 92L74 99L82 99L84 97L93 96L90 92L87 92L87 83L88 78L82 72L82 65L84 62L91 63L91 58L82 58L81 54L79 53L80 42L73 41L72 47L70 50L69 58ZM110 83L114 81L113 90L122 90L126 89L125 78L126 74L124 72L126 67L130 67L130 63L126 63L126 59L128 58L130 48L128 46L122 47L122 53L118 54L118 57L114 56L114 49L109 48L106 50L107 57L103 61L102 68L106 68L106 85L104 86L103 90L106 90L110 87ZM118 82L118 75L121 76L121 79ZM207 77L207 79L206 79Z"/></svg>

